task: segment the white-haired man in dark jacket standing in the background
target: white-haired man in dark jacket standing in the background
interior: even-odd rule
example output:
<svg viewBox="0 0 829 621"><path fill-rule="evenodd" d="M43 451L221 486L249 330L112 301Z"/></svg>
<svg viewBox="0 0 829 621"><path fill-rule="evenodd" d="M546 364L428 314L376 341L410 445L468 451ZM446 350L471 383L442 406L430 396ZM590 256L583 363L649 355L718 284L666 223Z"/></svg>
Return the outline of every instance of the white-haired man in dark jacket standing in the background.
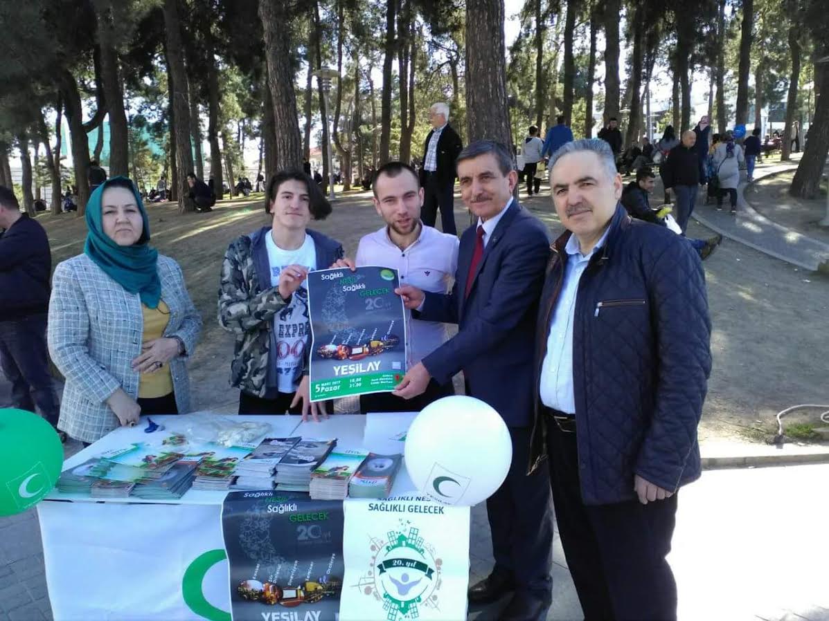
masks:
<svg viewBox="0 0 829 621"><path fill-rule="evenodd" d="M424 203L420 219L427 226L434 226L440 208L440 222L444 233L454 235L454 188L455 159L463 149L458 133L449 126L449 107L446 103L433 103L429 108L432 131L426 137L423 150L423 168L420 186L424 188Z"/></svg>

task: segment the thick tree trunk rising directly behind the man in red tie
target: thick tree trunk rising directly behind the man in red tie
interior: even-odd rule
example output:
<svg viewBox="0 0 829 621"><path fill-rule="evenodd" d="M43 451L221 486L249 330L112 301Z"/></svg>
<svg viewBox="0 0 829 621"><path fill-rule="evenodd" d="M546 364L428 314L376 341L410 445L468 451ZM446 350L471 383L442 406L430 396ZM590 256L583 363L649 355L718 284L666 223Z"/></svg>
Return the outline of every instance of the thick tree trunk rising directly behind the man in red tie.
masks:
<svg viewBox="0 0 829 621"><path fill-rule="evenodd" d="M466 41L469 142L487 138L511 150L503 0L468 0Z"/></svg>

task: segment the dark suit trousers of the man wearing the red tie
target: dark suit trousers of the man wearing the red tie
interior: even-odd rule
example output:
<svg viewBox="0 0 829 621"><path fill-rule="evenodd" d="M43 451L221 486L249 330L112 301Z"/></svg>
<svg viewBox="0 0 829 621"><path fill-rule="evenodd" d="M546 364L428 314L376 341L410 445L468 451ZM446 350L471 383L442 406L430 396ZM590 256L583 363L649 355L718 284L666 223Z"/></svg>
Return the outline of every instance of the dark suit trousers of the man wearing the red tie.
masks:
<svg viewBox="0 0 829 621"><path fill-rule="evenodd" d="M493 574L511 576L516 589L545 601L552 594L553 515L546 469L526 474L530 429L510 427L512 464L507 479L487 499Z"/></svg>

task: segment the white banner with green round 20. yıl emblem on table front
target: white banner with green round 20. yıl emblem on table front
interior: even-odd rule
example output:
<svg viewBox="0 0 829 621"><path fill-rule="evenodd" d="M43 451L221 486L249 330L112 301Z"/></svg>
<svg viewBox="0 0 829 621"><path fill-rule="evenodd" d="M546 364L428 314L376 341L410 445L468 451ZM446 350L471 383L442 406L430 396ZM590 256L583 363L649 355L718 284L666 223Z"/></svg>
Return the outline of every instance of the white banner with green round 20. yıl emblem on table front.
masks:
<svg viewBox="0 0 829 621"><path fill-rule="evenodd" d="M410 496L345 513L340 621L467 618L468 507Z"/></svg>

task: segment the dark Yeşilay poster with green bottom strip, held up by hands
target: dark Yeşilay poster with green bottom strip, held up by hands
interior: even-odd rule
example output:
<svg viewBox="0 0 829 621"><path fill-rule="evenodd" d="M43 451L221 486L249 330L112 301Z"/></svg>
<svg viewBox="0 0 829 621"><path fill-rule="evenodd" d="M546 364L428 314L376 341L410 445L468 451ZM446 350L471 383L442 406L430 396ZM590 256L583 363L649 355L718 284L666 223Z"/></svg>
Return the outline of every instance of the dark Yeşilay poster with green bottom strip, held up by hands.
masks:
<svg viewBox="0 0 829 621"><path fill-rule="evenodd" d="M406 372L406 315L386 267L308 274L311 401L390 392Z"/></svg>

